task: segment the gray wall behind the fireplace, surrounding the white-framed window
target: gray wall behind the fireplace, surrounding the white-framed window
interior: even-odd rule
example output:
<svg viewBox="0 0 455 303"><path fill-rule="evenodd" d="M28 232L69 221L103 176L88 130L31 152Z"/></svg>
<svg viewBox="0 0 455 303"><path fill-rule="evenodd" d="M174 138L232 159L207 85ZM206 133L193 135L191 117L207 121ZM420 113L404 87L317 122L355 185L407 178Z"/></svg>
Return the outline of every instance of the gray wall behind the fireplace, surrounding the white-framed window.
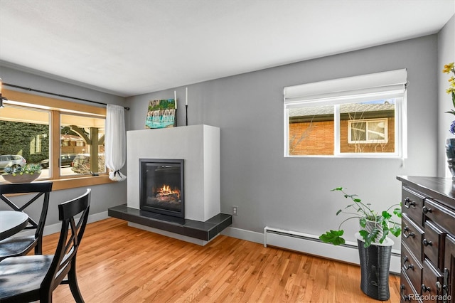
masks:
<svg viewBox="0 0 455 303"><path fill-rule="evenodd" d="M408 158L284 158L283 87L407 68ZM398 175L437 174L437 36L425 36L254 73L188 85L189 124L221 129L221 211L239 207L232 227L261 233L264 226L320 235L338 228L347 187L375 208L400 201ZM143 129L149 100L173 90L127 98L129 129ZM184 87L177 87L178 125L184 124ZM354 240L357 223L346 225ZM398 242L398 241L396 241ZM396 243L395 248L399 248Z"/></svg>

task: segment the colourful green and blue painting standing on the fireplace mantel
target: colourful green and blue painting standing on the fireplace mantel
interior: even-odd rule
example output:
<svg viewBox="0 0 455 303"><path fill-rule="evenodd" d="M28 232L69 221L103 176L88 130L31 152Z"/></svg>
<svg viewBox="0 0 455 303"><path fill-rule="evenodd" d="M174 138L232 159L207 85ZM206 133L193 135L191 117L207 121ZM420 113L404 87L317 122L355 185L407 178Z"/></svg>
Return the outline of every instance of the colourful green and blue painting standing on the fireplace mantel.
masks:
<svg viewBox="0 0 455 303"><path fill-rule="evenodd" d="M149 102L147 117L145 119L146 128L166 128L176 126L176 100L164 99Z"/></svg>

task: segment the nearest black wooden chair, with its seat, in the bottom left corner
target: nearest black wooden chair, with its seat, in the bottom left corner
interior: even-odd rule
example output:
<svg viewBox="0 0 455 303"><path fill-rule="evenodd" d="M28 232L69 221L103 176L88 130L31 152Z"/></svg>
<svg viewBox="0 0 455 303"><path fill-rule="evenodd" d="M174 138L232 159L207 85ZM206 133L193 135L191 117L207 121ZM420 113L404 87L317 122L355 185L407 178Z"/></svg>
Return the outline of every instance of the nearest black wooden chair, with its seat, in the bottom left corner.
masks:
<svg viewBox="0 0 455 303"><path fill-rule="evenodd" d="M70 285L75 301L84 302L77 286L76 255L87 225L89 208L90 189L58 206L62 228L55 255L8 257L0 262L1 303L37 300L51 303L52 292L60 284ZM80 218L75 220L78 214Z"/></svg>

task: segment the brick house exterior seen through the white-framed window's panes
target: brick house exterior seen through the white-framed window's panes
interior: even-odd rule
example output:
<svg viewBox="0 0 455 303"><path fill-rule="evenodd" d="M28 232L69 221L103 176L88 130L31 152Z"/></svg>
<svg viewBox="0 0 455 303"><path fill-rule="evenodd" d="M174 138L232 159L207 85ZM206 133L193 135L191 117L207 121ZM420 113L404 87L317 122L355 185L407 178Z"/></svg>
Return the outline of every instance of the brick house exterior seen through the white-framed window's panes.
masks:
<svg viewBox="0 0 455 303"><path fill-rule="evenodd" d="M395 99L289 110L289 155L334 155L336 133L340 153L395 152Z"/></svg>

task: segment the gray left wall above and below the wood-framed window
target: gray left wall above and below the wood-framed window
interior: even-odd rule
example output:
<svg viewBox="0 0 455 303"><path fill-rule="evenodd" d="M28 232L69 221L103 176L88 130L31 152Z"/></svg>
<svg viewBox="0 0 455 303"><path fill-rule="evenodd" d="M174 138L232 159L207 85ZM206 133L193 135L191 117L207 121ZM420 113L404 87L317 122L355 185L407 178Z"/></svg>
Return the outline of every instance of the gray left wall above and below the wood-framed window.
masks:
<svg viewBox="0 0 455 303"><path fill-rule="evenodd" d="M62 95L79 97L82 99L93 100L97 102L112 103L117 105L126 104L123 97L118 97L115 95L107 94L105 92L91 90L89 88L80 87L78 85L63 83L58 80L47 78L47 76L48 75L46 75L46 77L43 77L41 75L27 73L26 71L18 70L16 68L6 67L4 65L0 66L0 77L4 83L20 85L23 87L30 87L37 90L43 90L48 92L55 92ZM4 88L13 90L11 87ZM19 89L16 90L20 92L27 92ZM49 95L46 96L52 97ZM65 98L61 97L54 98L65 100ZM72 99L67 100L71 102L78 102ZM85 102L85 104L87 103ZM126 170L122 169L122 171ZM90 206L90 215L102 213L107 211L107 208L109 207L127 203L127 184L125 182L90 186L90 188L92 188L92 202ZM70 198L80 196L82 193L85 193L85 188L72 188L68 190L53 191L50 195L50 206L48 218L46 220L46 225L51 225L59 222L57 208L57 205L59 203L67 201ZM41 210L36 209L36 212L39 211Z"/></svg>

